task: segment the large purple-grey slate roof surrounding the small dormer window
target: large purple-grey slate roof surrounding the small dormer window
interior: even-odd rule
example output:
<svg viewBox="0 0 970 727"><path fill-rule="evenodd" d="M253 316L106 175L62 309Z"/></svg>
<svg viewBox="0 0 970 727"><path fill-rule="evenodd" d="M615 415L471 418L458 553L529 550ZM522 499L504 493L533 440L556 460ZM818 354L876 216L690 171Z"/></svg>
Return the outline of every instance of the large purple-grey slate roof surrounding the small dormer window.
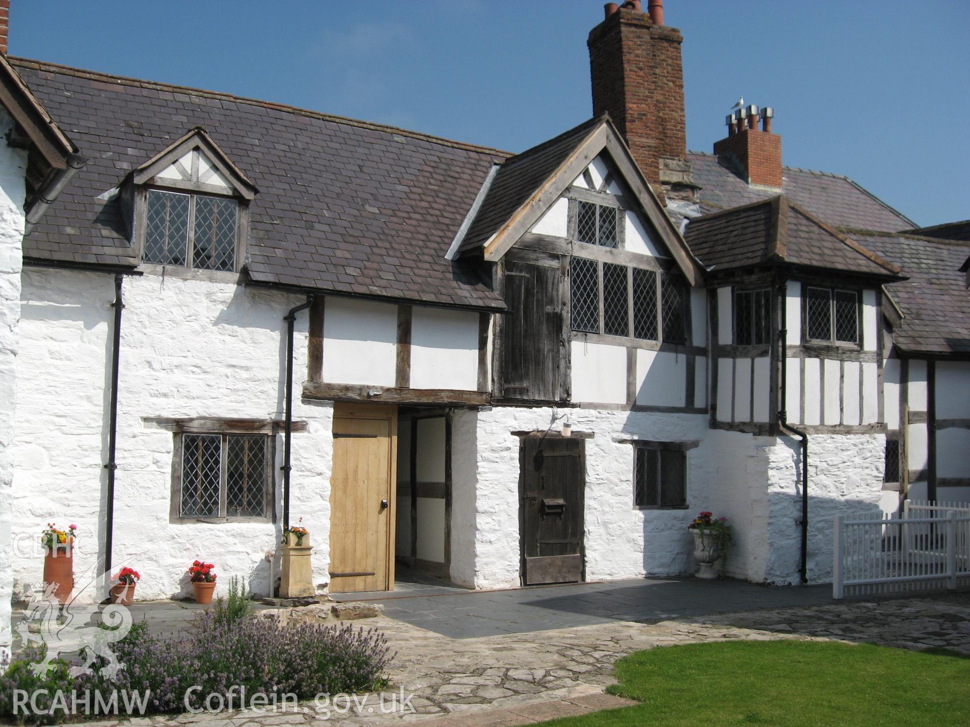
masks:
<svg viewBox="0 0 970 727"><path fill-rule="evenodd" d="M229 94L11 62L89 160L24 239L25 258L135 265L118 203L106 197L201 126L259 189L246 266L253 281L503 307L477 270L445 253L504 152Z"/></svg>

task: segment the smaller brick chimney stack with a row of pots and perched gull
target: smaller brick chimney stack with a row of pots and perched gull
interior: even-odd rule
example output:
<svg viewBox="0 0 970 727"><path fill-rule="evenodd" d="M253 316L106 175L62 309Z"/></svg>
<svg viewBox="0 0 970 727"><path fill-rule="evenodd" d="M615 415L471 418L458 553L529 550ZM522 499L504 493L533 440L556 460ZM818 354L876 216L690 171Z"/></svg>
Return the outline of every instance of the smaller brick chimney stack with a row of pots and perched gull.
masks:
<svg viewBox="0 0 970 727"><path fill-rule="evenodd" d="M727 137L714 142L714 153L733 164L748 184L781 189L782 138L771 133L774 115L774 109L755 105L727 114Z"/></svg>

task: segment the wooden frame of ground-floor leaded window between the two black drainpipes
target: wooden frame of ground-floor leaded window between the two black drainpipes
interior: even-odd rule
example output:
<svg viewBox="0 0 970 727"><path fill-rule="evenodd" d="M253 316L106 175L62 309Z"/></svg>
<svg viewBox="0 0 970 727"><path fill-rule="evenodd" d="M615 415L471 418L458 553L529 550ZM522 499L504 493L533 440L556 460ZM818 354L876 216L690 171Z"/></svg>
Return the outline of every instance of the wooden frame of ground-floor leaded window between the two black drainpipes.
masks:
<svg viewBox="0 0 970 727"><path fill-rule="evenodd" d="M168 427L166 427L168 428ZM181 513L181 490L182 490L182 458L184 454L183 440L185 435L201 434L219 436L219 512L217 516L203 517L187 515ZM228 442L230 436L252 436L261 437L266 443L265 482L264 482L264 508L265 515L262 516L227 516L227 491L228 491ZM263 429L253 429L245 427L236 429L231 426L211 427L209 430L202 430L198 427L178 427L174 431L174 446L172 451L172 486L169 508L169 522L176 523L222 523L222 522L276 522L275 513L275 452L276 452L275 427Z"/></svg>

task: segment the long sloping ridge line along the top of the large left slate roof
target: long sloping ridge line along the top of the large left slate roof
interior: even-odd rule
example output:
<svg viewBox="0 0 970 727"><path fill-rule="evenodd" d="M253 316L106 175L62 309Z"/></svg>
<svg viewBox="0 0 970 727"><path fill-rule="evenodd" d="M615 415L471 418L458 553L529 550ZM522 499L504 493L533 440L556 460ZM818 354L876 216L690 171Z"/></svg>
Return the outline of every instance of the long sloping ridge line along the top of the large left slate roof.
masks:
<svg viewBox="0 0 970 727"><path fill-rule="evenodd" d="M513 152L505 151L503 149L497 149L493 146L483 146L481 144L475 144L470 142L458 142L454 139L446 139L445 137L437 137L434 134L425 134L419 131L411 131L410 129L402 129L398 126L390 126L388 124L378 124L372 121L362 121L357 118L350 118L349 116L338 116L333 113L324 113L323 111L313 111L311 109L304 109L297 106L291 106L289 104L280 104L274 101L264 101L262 99L254 99L249 96L237 96L232 93L226 93L225 91L211 91L205 88L196 88L194 86L182 86L176 83L166 83L164 81L158 80L147 80L147 79L136 79L131 76L116 76L114 74L107 74L101 71L88 71L82 68L76 68L74 66L65 66L60 63L50 63L49 61L40 61L33 58L21 58L19 56L8 56L11 64L18 68L30 68L37 71L49 71L52 73L65 74L67 76L74 76L79 79L90 79L90 80L102 80L106 82L114 82L118 85L129 85L139 88L151 88L154 90L170 91L178 93L187 93L195 96L204 96L215 99L224 99L228 101L235 101L242 104L249 104L251 106L259 106L265 109L274 109L275 111L286 111L290 113L295 113L297 115L308 116L310 118L317 118L322 121L333 121L334 123L346 124L348 126L357 126L362 129L372 129L373 131L382 131L388 134L398 134L400 136L410 137L412 139L419 139L428 142L439 143L445 146L452 146L459 149L465 149L467 151L475 151L484 154L494 154L498 156L503 156L506 159L514 156Z"/></svg>

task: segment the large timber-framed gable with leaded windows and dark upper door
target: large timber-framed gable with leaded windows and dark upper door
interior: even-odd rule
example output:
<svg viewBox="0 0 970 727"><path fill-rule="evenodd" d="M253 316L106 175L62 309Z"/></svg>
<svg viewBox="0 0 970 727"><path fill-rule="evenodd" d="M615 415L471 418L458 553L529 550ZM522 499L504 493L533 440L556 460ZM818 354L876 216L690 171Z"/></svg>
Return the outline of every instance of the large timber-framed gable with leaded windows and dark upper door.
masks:
<svg viewBox="0 0 970 727"><path fill-rule="evenodd" d="M494 264L508 306L496 399L706 406L700 269L608 116L505 161L480 198L450 254Z"/></svg>

